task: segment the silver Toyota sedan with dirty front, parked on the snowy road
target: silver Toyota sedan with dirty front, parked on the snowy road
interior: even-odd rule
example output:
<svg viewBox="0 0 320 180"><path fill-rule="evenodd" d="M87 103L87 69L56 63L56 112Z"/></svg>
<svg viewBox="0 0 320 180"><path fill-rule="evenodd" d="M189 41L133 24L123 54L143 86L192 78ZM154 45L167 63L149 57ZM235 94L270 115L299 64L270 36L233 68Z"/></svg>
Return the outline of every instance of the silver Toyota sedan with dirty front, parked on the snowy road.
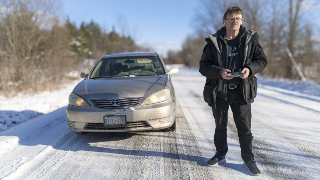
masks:
<svg viewBox="0 0 320 180"><path fill-rule="evenodd" d="M77 133L175 130L175 94L157 53L99 60L69 95L68 128Z"/></svg>

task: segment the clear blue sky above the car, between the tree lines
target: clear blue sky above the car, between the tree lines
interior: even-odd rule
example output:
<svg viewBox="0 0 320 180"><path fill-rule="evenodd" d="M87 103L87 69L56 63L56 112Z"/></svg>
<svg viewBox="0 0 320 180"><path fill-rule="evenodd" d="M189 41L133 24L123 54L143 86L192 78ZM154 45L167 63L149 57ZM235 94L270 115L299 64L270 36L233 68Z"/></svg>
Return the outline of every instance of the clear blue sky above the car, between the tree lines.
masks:
<svg viewBox="0 0 320 180"><path fill-rule="evenodd" d="M139 45L151 47L161 56L168 49L180 50L184 38L194 29L191 20L198 0L63 0L64 15L77 26L91 20L102 29L116 27L122 33L119 20L124 22L125 34Z"/></svg>

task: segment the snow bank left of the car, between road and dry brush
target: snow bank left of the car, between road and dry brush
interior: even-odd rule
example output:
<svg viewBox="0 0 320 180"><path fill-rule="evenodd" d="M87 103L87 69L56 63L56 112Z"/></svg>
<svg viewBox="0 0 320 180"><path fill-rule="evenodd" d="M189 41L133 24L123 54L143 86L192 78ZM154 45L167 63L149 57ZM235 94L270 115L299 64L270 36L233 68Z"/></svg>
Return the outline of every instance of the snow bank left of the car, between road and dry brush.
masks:
<svg viewBox="0 0 320 180"><path fill-rule="evenodd" d="M0 132L68 105L69 94L81 80L79 78L64 84L55 91L20 93L10 98L0 95Z"/></svg>

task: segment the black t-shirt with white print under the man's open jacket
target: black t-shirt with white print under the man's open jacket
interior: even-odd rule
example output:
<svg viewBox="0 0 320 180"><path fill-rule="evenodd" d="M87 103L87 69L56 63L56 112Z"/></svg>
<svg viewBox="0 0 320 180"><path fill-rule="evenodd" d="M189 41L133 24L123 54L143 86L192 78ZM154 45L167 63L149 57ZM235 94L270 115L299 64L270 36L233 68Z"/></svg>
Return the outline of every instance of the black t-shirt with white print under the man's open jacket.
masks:
<svg viewBox="0 0 320 180"><path fill-rule="evenodd" d="M231 40L226 39L228 49L228 65L227 69L231 72L239 72L241 69L241 59L239 55L239 35ZM228 84L240 84L240 78L232 78L227 81Z"/></svg>

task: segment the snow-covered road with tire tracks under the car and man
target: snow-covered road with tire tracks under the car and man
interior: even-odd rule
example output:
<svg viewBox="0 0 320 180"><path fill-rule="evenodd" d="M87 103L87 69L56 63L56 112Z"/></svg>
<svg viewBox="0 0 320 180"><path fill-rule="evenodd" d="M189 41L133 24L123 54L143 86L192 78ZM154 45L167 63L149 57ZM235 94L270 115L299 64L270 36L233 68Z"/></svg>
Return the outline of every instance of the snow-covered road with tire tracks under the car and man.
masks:
<svg viewBox="0 0 320 180"><path fill-rule="evenodd" d="M319 96L258 85L252 134L262 176L254 177L242 167L231 110L228 162L206 166L215 123L205 78L181 68L172 81L175 132L78 135L67 129L65 106L0 133L0 179L320 179Z"/></svg>

